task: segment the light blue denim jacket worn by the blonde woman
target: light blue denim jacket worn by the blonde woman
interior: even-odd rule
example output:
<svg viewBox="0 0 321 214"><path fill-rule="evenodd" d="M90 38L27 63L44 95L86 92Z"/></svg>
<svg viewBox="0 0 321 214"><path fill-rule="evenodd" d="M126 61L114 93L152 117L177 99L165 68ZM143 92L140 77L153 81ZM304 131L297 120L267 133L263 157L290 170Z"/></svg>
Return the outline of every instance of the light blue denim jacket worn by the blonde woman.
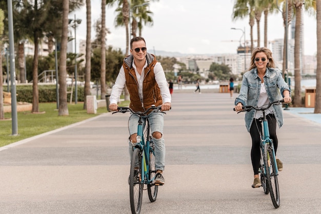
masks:
<svg viewBox="0 0 321 214"><path fill-rule="evenodd" d="M263 77L264 85L270 102L280 100L280 95L283 97L283 91L291 91L287 83L284 81L280 70L276 68L267 68ZM257 75L257 69L253 68L243 75L242 86L239 95L235 99L235 106L237 103L242 103L243 106L257 106L259 92L260 92L260 77ZM273 114L275 115L278 127L283 125L283 113L281 105L273 105ZM247 111L245 113L245 125L250 131L251 124L254 119L255 110Z"/></svg>

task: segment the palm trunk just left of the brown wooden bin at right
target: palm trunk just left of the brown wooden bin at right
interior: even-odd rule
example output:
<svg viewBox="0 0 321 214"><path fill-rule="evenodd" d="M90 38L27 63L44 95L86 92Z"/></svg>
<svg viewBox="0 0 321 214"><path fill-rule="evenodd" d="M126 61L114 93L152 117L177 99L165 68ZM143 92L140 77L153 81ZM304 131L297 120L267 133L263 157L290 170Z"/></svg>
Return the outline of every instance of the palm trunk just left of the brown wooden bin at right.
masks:
<svg viewBox="0 0 321 214"><path fill-rule="evenodd" d="M295 37L294 37L294 107L302 106L301 69L300 69L300 36L302 5L295 7Z"/></svg>

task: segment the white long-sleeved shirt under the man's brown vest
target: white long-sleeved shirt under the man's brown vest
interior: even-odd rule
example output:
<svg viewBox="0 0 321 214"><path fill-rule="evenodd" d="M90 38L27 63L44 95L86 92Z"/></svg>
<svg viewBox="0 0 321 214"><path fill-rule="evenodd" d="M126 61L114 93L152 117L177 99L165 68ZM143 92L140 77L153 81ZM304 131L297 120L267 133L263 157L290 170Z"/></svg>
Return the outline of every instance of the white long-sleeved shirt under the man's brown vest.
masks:
<svg viewBox="0 0 321 214"><path fill-rule="evenodd" d="M137 68L135 66L135 63L133 61L132 64L135 73L136 73L136 77L138 80L138 94L139 94L139 98L141 99L141 101L143 101L143 80L144 80L144 74L145 74L145 68L147 67L147 61L145 62L145 65L143 67L143 71L142 74L139 75L139 73L137 72ZM162 94L162 98L163 98L163 103L170 103L171 102L171 94L169 92L169 88L168 88L168 83L165 77L165 73L163 70L163 67L160 65L159 62L157 62L154 66L154 74L155 74L155 80L158 84L158 87L160 89L160 93ZM119 70L118 76L116 78L116 82L115 85L112 88L111 91L111 95L110 95L110 104L118 103L118 100L122 94L122 91L125 87L126 84L126 78L125 78L125 71L123 66L121 67L121 69Z"/></svg>

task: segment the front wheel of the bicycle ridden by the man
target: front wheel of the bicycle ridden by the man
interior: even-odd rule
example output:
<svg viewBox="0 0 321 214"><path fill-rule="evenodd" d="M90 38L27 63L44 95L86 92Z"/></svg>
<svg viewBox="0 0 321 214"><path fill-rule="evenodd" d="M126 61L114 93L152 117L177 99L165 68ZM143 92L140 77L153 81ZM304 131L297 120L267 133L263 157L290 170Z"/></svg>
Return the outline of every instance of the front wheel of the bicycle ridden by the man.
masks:
<svg viewBox="0 0 321 214"><path fill-rule="evenodd" d="M129 198L132 214L139 214L142 208L143 188L142 183L142 151L134 149L129 175Z"/></svg>

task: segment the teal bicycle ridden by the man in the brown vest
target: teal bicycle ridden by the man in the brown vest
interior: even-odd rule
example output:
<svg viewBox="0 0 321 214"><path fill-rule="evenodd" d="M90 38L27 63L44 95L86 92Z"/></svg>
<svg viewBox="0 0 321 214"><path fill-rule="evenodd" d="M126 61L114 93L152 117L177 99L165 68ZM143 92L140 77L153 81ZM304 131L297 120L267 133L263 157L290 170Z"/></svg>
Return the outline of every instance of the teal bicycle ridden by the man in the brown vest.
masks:
<svg viewBox="0 0 321 214"><path fill-rule="evenodd" d="M118 107L117 111L113 112L131 112L138 116L137 126L137 143L133 144L133 154L130 164L129 174L129 197L130 207L133 214L141 212L144 184L147 185L148 198L150 202L156 201L158 186L155 184L156 169L155 169L155 155L154 142L150 133L150 126L148 121L148 113L157 112L161 106L152 106L144 112L134 111L129 107ZM161 111L162 113L165 113ZM145 127L144 127L145 121Z"/></svg>

